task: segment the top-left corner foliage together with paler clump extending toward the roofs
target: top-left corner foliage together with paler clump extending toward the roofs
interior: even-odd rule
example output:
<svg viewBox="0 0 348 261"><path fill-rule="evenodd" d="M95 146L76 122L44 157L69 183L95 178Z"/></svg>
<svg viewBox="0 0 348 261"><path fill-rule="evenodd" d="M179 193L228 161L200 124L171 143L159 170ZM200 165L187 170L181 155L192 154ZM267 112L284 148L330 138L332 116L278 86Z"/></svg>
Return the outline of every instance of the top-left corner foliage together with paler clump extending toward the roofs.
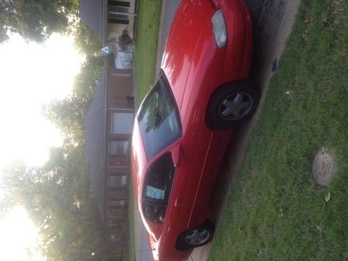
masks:
<svg viewBox="0 0 348 261"><path fill-rule="evenodd" d="M8 31L35 42L45 42L54 32L69 33L82 54L95 56L102 47L100 38L78 12L78 0L0 1L0 43L8 39Z"/></svg>

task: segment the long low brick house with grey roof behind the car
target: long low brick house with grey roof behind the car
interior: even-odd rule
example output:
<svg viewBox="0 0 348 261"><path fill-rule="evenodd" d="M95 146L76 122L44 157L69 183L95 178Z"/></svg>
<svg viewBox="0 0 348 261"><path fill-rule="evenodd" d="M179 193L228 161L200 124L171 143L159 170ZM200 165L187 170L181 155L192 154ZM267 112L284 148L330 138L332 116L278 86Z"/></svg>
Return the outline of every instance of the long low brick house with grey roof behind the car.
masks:
<svg viewBox="0 0 348 261"><path fill-rule="evenodd" d="M127 74L108 68L97 83L86 116L86 158L102 219L127 218L129 150L134 120L134 105L132 100L127 100L132 97L131 86L132 78Z"/></svg>

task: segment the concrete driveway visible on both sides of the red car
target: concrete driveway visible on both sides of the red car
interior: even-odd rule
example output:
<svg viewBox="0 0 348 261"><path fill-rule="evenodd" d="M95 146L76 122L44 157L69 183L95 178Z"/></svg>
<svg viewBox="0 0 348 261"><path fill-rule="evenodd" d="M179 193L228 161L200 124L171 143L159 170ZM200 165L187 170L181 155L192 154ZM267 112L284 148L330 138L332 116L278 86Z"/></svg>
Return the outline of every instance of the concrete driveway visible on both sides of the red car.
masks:
<svg viewBox="0 0 348 261"><path fill-rule="evenodd" d="M226 208L226 201L234 183L235 172L244 159L244 151L248 144L249 136L260 115L260 111L262 111L269 80L274 71L276 71L277 61L290 34L300 0L245 0L244 2L253 18L254 51L251 79L260 89L262 96L260 106L253 119L234 129L234 135L226 152L225 161L223 166L221 166L221 173L218 175L218 180L216 180L216 189L209 205L209 216L216 226L219 226L219 219ZM166 38L179 3L180 0L164 0L162 3L156 66L157 74L159 73ZM196 248L189 260L207 260L211 247L212 244L207 244L206 246Z"/></svg>

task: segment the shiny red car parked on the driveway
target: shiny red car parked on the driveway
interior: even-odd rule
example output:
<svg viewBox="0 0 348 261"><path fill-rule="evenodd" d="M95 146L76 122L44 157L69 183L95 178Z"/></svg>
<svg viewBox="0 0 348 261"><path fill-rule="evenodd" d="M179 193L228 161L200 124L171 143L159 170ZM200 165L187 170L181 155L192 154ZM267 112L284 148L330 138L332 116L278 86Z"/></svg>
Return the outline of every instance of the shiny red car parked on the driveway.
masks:
<svg viewBox="0 0 348 261"><path fill-rule="evenodd" d="M207 219L231 127L253 116L251 17L241 0L182 0L159 79L136 114L135 196L155 260L212 240Z"/></svg>

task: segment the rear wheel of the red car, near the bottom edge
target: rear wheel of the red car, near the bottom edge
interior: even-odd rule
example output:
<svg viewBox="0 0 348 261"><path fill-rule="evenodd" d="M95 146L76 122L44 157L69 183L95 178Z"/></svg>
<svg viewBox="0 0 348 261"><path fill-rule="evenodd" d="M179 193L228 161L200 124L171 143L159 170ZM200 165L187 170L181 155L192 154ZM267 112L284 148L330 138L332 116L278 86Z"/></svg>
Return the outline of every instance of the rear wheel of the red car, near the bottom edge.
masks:
<svg viewBox="0 0 348 261"><path fill-rule="evenodd" d="M205 223L190 228L180 234L177 238L176 248L179 251L186 251L198 246L204 246L212 241L214 237L214 225L207 220Z"/></svg>

